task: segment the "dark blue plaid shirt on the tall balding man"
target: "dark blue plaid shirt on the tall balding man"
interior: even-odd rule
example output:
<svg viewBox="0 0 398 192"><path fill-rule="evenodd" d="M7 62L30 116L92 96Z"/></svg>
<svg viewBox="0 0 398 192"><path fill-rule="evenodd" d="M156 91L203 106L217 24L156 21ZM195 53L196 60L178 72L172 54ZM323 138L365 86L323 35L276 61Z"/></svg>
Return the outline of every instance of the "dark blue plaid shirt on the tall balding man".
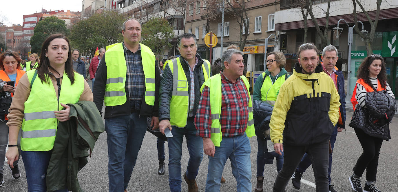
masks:
<svg viewBox="0 0 398 192"><path fill-rule="evenodd" d="M125 51L125 59L127 65L126 74L126 91L129 96L130 108L139 112L141 108L142 98L145 92L145 76L141 60L141 45L138 50L133 53L124 43L122 43Z"/></svg>

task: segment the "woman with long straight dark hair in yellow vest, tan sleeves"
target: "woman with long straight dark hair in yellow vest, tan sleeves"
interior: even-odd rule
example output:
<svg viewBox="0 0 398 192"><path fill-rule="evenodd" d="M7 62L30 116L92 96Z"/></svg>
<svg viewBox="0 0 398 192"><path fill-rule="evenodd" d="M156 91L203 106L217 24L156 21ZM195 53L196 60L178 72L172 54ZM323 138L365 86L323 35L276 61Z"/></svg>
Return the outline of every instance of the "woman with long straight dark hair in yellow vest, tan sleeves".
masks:
<svg viewBox="0 0 398 192"><path fill-rule="evenodd" d="M41 63L22 76L10 107L7 123L8 164L18 159L16 147L21 129L21 153L28 191L47 190L47 167L59 121L69 120L70 107L78 101L93 101L84 77L72 68L70 43L62 34L48 37L41 48ZM57 192L67 192L67 189Z"/></svg>

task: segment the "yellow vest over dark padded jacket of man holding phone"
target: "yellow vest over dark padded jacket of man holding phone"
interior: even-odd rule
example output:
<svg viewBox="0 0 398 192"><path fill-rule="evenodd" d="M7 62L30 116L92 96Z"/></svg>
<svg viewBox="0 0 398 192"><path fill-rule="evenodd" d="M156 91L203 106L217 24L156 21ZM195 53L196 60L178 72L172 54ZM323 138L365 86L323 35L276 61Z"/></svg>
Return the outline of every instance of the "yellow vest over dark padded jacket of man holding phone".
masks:
<svg viewBox="0 0 398 192"><path fill-rule="evenodd" d="M173 91L170 100L170 124L183 128L187 125L189 112L189 85L180 57L168 60L167 65L173 74ZM205 81L210 76L210 62L203 59L203 76Z"/></svg>

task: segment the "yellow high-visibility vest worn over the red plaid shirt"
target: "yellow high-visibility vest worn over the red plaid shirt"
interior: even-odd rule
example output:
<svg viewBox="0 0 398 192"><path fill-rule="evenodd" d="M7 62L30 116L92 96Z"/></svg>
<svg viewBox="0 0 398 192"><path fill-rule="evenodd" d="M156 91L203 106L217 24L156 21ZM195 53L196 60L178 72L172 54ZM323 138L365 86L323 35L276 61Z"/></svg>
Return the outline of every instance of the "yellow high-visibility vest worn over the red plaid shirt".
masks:
<svg viewBox="0 0 398 192"><path fill-rule="evenodd" d="M253 105L252 98L249 92L249 82L245 76L240 76L246 85L248 90L249 103L248 103L248 125L246 127L246 135L248 137L256 136L254 131L254 120L253 120ZM220 114L221 114L221 76L220 74L215 74L209 80L207 80L201 87L201 91L205 86L210 88L210 110L211 110L211 141L213 141L214 146L220 147L222 140L221 124L220 124Z"/></svg>

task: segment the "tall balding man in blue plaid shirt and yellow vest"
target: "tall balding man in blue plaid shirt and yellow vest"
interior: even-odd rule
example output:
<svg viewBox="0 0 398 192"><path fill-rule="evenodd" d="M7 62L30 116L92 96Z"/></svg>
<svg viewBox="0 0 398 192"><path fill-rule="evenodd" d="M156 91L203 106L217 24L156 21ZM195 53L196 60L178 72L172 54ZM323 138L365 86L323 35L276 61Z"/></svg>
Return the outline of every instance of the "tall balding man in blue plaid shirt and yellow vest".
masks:
<svg viewBox="0 0 398 192"><path fill-rule="evenodd" d="M121 32L124 41L107 46L106 54L98 57L98 68L90 66L97 68L93 95L101 114L105 100L109 192L127 191L145 136L146 117L152 117L154 129L159 124L160 72L155 55L139 43L141 24L137 20L127 20ZM101 49L100 55L103 52Z"/></svg>

